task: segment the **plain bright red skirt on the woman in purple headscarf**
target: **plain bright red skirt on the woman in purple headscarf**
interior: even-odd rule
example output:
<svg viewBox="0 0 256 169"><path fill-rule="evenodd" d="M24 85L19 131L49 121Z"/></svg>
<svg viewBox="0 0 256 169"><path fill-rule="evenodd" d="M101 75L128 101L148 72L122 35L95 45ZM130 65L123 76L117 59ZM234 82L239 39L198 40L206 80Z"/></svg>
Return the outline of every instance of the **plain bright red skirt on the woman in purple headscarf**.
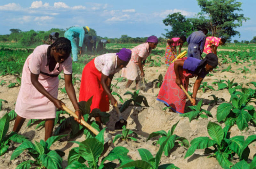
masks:
<svg viewBox="0 0 256 169"><path fill-rule="evenodd" d="M79 102L87 101L92 96L92 109L98 108L100 111L109 111L109 98L100 83L101 72L94 65L94 59L84 66L82 73Z"/></svg>

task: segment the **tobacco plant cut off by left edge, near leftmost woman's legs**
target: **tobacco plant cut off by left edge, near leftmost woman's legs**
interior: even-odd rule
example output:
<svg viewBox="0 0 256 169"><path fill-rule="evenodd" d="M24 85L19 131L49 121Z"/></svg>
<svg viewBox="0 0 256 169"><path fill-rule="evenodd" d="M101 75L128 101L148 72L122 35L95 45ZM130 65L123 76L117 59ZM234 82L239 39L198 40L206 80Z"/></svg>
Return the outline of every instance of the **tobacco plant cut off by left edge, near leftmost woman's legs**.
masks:
<svg viewBox="0 0 256 169"><path fill-rule="evenodd" d="M16 132L11 132L11 134L6 134L9 129L10 117L8 113L6 113L0 119L0 156L4 155L10 146L10 142L18 142L22 143L27 141L27 137L20 135Z"/></svg>

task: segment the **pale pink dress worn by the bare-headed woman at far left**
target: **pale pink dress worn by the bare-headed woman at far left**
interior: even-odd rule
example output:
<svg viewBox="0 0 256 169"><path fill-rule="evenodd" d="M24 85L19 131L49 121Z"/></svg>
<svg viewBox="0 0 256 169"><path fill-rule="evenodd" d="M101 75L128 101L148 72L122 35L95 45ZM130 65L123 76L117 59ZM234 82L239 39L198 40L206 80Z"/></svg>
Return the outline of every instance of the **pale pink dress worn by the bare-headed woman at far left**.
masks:
<svg viewBox="0 0 256 169"><path fill-rule="evenodd" d="M58 97L58 74L72 74L72 58L62 64L57 63L52 72L47 65L47 49L50 45L37 46L28 56L22 70L21 86L16 101L15 112L26 119L52 119L56 116L56 107L31 83L30 72L39 74L38 81L54 98Z"/></svg>

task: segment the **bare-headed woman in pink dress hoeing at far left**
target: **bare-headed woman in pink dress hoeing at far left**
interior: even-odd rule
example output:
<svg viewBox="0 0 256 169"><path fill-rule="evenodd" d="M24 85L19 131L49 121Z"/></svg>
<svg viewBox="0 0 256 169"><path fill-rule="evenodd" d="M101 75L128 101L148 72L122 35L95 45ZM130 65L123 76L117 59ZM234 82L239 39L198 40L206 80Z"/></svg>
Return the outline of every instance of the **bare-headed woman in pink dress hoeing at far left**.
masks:
<svg viewBox="0 0 256 169"><path fill-rule="evenodd" d="M61 109L61 104L64 104L57 99L58 75L62 70L67 94L79 117L75 120L80 123L80 119L84 119L72 84L70 52L70 41L61 37L51 46L37 46L28 56L23 66L21 86L15 106L17 117L13 127L14 132L19 132L25 119L46 119L44 140L51 137L56 107Z"/></svg>

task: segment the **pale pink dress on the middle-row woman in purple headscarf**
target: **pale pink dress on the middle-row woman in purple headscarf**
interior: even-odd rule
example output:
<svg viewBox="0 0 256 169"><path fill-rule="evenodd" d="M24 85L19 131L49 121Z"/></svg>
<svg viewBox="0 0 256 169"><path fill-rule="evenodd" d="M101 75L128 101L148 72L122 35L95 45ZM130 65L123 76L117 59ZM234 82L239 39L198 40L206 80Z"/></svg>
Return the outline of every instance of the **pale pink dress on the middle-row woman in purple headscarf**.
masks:
<svg viewBox="0 0 256 169"><path fill-rule="evenodd" d="M142 43L138 46L135 46L132 50L132 57L129 63L125 68L122 69L122 77L127 78L128 80L140 80L140 68L139 68L139 57L142 58L142 61L146 60L146 58L151 54L151 50L149 50L148 42Z"/></svg>

